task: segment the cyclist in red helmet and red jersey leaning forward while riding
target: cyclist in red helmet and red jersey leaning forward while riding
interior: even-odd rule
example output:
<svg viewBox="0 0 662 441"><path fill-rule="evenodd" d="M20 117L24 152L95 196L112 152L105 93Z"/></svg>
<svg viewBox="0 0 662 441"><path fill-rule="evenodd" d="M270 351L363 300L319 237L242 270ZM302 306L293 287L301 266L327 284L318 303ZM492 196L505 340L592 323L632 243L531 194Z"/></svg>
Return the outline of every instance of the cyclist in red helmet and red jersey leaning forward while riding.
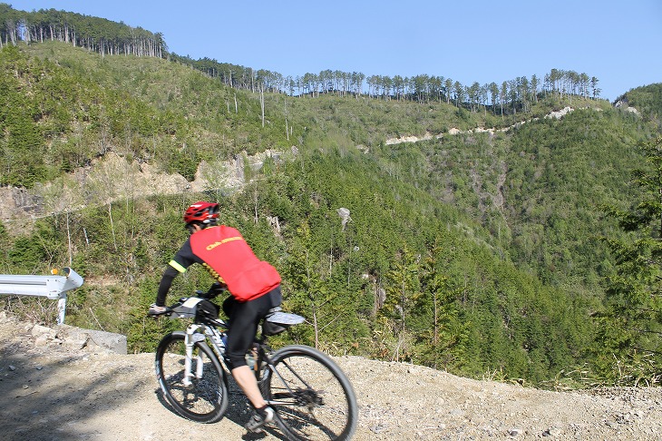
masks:
<svg viewBox="0 0 662 441"><path fill-rule="evenodd" d="M273 421L274 411L262 397L245 356L259 320L269 309L280 305L280 275L268 262L256 257L239 230L217 225L218 220L218 203L199 201L186 209L184 222L190 236L163 272L156 302L149 312L159 315L166 311L165 299L172 279L193 263L203 265L214 279L227 286L231 296L223 302L223 310L229 317L229 368L255 408L245 427L249 432L261 432L262 426Z"/></svg>

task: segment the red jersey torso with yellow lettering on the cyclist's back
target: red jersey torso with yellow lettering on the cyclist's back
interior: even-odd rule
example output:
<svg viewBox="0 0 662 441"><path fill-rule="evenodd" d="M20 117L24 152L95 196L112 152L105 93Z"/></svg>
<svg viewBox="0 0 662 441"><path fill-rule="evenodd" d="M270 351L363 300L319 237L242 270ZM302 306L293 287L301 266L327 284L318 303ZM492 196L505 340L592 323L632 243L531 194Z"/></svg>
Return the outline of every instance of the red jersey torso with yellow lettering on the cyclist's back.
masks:
<svg viewBox="0 0 662 441"><path fill-rule="evenodd" d="M239 301L256 299L280 284L278 271L259 260L239 230L232 227L219 225L196 231L190 236L190 247Z"/></svg>

